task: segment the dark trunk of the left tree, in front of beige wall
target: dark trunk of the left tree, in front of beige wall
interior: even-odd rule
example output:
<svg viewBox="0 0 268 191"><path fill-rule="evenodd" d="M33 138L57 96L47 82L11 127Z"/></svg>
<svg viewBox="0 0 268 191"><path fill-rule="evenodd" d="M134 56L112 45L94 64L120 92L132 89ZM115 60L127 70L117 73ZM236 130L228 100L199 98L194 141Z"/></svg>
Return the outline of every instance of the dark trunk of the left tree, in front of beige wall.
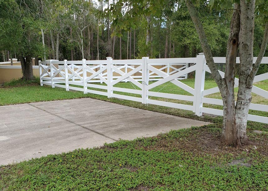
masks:
<svg viewBox="0 0 268 191"><path fill-rule="evenodd" d="M31 56L20 57L22 65L22 75L24 80L34 80L33 68L32 68L32 58Z"/></svg>

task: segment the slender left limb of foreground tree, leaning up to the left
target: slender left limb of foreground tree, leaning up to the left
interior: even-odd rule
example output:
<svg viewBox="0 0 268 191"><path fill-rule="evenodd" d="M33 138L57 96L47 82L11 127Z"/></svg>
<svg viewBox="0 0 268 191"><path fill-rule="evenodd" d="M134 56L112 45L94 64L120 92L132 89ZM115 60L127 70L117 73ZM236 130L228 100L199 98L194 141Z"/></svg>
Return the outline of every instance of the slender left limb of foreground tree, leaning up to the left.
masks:
<svg viewBox="0 0 268 191"><path fill-rule="evenodd" d="M213 60L213 56L211 53L211 50L208 45L208 39L206 37L205 31L203 29L202 22L199 20L198 12L194 7L194 4L191 2L191 0L185 0L186 5L188 7L188 10L190 12L190 16L194 22L194 26L196 29L196 32L199 36L199 40L201 43L201 47L203 49L208 67L211 71L211 74L213 76L213 79L216 81L218 87L220 90L223 89L223 78L221 77L220 73L218 72L217 66Z"/></svg>

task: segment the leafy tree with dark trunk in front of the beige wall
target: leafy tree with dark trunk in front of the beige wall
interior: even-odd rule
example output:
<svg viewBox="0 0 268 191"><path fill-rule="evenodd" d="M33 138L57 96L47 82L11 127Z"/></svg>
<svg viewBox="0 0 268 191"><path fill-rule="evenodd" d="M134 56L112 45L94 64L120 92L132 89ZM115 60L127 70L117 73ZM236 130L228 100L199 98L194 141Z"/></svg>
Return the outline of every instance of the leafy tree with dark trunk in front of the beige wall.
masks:
<svg viewBox="0 0 268 191"><path fill-rule="evenodd" d="M23 79L33 80L32 57L43 51L38 35L41 4L33 0L3 0L0 7L0 29L4 31L0 33L0 49L16 50Z"/></svg>

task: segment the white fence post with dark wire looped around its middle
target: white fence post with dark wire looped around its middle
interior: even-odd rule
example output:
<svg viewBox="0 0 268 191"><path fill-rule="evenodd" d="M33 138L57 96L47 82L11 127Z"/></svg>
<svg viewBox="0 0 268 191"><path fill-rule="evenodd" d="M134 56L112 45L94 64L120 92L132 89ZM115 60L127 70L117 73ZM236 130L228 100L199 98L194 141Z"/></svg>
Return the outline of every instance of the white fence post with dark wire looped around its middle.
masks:
<svg viewBox="0 0 268 191"><path fill-rule="evenodd" d="M142 89L141 89L141 98L142 103L146 104L148 99L148 90L147 85L149 85L149 70L148 70L148 59L149 57L142 57Z"/></svg>

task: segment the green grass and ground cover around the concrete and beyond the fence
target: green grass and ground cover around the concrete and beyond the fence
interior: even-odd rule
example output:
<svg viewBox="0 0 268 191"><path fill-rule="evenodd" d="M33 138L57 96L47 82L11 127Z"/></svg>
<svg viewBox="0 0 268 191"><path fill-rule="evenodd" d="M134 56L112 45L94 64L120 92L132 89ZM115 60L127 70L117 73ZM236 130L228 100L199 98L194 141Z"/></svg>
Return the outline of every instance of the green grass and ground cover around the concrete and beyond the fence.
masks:
<svg viewBox="0 0 268 191"><path fill-rule="evenodd" d="M183 82L194 86L192 79ZM267 84L256 85L267 90ZM187 94L173 84L165 85L152 91L163 88L161 92ZM117 87L134 88L130 83ZM215 83L207 80L205 89L212 87ZM0 105L86 97L213 124L0 166L0 190L268 190L268 134L252 131L268 131L268 124L248 122L247 135L258 143L257 149L233 148L218 142L221 116L198 117L192 111L41 87L38 79L12 81L0 88ZM267 104L257 96L253 96L253 102Z"/></svg>

